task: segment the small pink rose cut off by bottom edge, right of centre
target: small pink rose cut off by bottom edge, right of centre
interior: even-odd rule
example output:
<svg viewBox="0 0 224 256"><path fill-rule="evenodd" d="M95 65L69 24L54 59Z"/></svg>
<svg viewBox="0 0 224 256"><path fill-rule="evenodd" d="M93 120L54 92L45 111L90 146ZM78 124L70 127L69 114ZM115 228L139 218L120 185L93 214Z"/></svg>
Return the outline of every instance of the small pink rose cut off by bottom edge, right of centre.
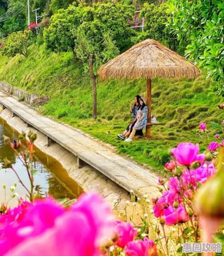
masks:
<svg viewBox="0 0 224 256"><path fill-rule="evenodd" d="M143 240L134 240L124 247L126 256L149 256L149 243Z"/></svg>

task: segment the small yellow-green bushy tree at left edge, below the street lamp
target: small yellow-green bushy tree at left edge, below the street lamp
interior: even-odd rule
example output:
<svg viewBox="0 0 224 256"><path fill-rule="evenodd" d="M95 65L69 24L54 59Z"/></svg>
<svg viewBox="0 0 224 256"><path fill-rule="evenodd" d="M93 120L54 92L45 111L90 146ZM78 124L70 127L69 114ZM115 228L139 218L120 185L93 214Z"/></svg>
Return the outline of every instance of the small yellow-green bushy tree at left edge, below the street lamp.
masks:
<svg viewBox="0 0 224 256"><path fill-rule="evenodd" d="M8 57L14 57L16 54L21 54L27 57L27 47L31 31L25 30L24 32L13 32L4 41L2 47L2 54Z"/></svg>

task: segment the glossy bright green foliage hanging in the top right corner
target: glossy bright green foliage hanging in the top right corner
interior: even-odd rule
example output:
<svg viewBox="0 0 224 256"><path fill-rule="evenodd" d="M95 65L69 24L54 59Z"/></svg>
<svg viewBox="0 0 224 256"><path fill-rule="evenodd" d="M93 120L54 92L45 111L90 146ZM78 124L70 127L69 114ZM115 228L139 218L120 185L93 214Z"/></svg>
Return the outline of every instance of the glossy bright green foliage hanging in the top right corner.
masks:
<svg viewBox="0 0 224 256"><path fill-rule="evenodd" d="M186 57L204 68L217 82L213 91L224 96L224 3L218 0L170 0L169 25L180 43L188 45Z"/></svg>

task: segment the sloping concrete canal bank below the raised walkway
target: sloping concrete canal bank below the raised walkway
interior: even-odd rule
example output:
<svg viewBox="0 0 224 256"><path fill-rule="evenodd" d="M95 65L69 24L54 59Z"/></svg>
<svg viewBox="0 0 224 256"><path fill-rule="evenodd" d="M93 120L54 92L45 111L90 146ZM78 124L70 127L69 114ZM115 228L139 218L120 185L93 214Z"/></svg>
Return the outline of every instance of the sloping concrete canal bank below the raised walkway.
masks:
<svg viewBox="0 0 224 256"><path fill-rule="evenodd" d="M32 127L28 127L28 124L26 124L20 117L14 116L11 110L3 109L1 104L0 117L18 132L24 131L28 133L30 129L33 132L37 132L35 146L61 163L69 176L74 179L85 192L97 191L104 195L111 206L114 205L114 200L117 200L119 202L118 210L122 211L124 209L125 202L130 199L130 196L127 195L127 192L123 188L89 165L79 168L77 166L77 157L74 154L61 147L58 143L47 145L47 137L43 133Z"/></svg>

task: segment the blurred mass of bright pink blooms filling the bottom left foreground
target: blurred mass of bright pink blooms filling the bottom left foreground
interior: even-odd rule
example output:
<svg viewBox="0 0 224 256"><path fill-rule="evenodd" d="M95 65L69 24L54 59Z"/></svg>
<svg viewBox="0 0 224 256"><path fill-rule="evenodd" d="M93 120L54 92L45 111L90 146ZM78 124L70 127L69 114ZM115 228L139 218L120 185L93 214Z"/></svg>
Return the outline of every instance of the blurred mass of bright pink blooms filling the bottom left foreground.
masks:
<svg viewBox="0 0 224 256"><path fill-rule="evenodd" d="M20 223L4 228L0 256L99 255L100 241L114 234L114 220L94 193L81 195L68 210L51 198L37 200Z"/></svg>

